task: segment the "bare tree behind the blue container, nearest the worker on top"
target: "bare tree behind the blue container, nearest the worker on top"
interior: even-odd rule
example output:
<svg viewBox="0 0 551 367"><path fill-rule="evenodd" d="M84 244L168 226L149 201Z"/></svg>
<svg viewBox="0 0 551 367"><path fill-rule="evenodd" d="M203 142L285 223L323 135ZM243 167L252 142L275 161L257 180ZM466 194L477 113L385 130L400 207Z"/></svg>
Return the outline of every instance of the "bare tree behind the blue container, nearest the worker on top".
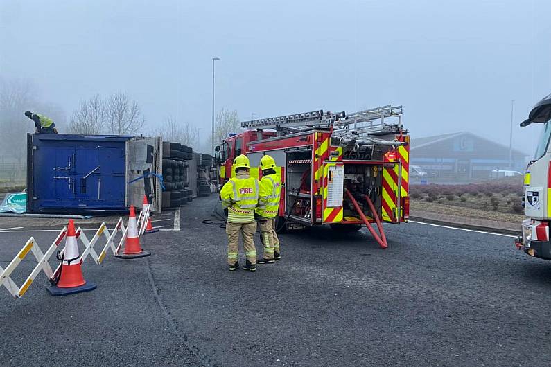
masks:
<svg viewBox="0 0 551 367"><path fill-rule="evenodd" d="M72 134L100 134L105 126L106 116L105 103L96 95L80 102L73 111L68 130Z"/></svg>

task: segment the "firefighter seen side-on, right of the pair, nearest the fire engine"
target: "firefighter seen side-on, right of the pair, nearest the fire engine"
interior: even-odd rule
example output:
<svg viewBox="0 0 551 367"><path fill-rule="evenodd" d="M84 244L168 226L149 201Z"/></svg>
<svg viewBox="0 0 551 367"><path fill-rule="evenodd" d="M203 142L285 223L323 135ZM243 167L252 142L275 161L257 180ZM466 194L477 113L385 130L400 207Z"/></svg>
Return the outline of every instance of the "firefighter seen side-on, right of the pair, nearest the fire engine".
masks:
<svg viewBox="0 0 551 367"><path fill-rule="evenodd" d="M279 260L279 238L276 234L276 217L281 197L281 179L275 172L275 161L265 155L260 160L262 179L260 181L259 206L256 215L259 217L261 239L264 245L263 258L257 260L259 264L273 264Z"/></svg>

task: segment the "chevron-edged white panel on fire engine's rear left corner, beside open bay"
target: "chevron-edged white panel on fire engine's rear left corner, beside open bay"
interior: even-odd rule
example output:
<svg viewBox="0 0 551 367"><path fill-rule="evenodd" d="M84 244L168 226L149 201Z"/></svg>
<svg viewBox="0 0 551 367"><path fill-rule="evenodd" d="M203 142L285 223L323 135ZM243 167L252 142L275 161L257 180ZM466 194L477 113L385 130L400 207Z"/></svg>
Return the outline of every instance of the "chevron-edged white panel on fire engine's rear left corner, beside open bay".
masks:
<svg viewBox="0 0 551 367"><path fill-rule="evenodd" d="M342 222L344 196L344 164L325 163L323 179L323 222Z"/></svg>

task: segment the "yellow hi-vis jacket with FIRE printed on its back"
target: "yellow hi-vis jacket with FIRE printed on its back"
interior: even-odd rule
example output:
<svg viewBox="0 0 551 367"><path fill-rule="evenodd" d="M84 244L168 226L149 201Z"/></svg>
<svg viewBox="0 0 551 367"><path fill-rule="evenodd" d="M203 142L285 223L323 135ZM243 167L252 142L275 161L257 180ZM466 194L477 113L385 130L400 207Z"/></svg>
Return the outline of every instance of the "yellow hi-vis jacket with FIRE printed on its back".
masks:
<svg viewBox="0 0 551 367"><path fill-rule="evenodd" d="M259 180L248 172L239 172L227 181L222 190L222 208L227 208L230 223L254 222L254 208L259 203Z"/></svg>

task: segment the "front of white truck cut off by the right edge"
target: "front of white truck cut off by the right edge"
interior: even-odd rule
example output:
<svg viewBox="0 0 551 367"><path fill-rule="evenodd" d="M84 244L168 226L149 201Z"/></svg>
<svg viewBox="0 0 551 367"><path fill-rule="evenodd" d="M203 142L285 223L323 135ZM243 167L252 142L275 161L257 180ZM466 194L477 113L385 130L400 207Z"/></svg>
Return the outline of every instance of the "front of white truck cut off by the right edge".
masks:
<svg viewBox="0 0 551 367"><path fill-rule="evenodd" d="M524 177L525 219L522 234L515 240L517 249L536 258L551 259L549 222L551 220L551 94L539 101L521 127L543 123L534 159Z"/></svg>

